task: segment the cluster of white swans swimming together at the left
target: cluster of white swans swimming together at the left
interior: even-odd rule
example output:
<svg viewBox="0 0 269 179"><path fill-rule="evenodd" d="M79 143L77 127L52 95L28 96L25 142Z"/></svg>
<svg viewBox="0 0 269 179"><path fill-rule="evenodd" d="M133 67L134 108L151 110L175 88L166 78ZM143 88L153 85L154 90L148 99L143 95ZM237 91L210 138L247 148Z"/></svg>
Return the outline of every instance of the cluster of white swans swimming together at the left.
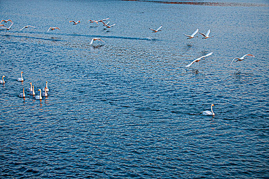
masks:
<svg viewBox="0 0 269 179"><path fill-rule="evenodd" d="M6 83L5 80L4 80L4 77L6 77L5 75L2 76L2 80L0 80L0 83ZM21 78L17 78L17 81L24 81L23 79L23 72L21 72ZM27 89L27 91L29 92L29 95L33 95L35 96L35 92L34 92L34 86L32 85L32 82L30 82L30 87ZM42 99L42 96L44 97L47 97L48 96L48 91L49 91L49 88L48 88L48 81L46 81L46 86L42 89L39 89L38 90L40 92L40 95L37 95L35 96L35 99ZM19 93L18 94L18 97L21 97L21 98L25 98L25 90L24 90L24 87L23 87L23 93Z"/></svg>

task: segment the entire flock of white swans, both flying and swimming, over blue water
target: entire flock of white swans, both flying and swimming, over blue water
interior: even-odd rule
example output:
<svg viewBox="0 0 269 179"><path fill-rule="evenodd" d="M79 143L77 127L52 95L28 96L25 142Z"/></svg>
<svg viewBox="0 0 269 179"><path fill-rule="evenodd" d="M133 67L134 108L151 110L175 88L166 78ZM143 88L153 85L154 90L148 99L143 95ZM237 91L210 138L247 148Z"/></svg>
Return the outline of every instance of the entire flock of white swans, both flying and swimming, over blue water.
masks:
<svg viewBox="0 0 269 179"><path fill-rule="evenodd" d="M106 28L111 28L111 27L113 27L114 25L116 25L116 24L113 24L113 25L109 26L109 25L108 25L108 24L109 24L109 21L108 21L108 23L105 23L105 21L108 20L108 19L109 19L109 18L100 19L100 20L91 20L91 19L90 19L90 20L88 20L88 21L89 21L90 23L96 23L96 24L98 24L98 23L101 22L101 23L103 24L103 26L105 26ZM4 22L4 23L8 23L8 21L10 21L12 24L7 28L7 27L5 27L4 24L2 24L2 22ZM81 23L81 21L80 21L80 20L78 20L78 21L70 20L69 23L73 23L73 25L78 25L79 23ZM11 29L11 26L12 26L12 25L13 25L13 21L10 20L10 19L8 19L8 20L4 20L4 19L3 19L3 20L0 21L0 27L6 29L7 31ZM21 30L26 29L26 28L29 28L29 27L31 27L31 28L35 28L34 26L25 26L25 27L23 27ZM156 33L156 32L162 31L161 28L162 28L162 26L160 26L157 30L155 30L155 29L151 29L151 28L149 28L149 29L152 31L152 33ZM49 31L52 31L52 30L55 30L55 29L61 30L59 27L50 27L50 28L48 29L48 32L49 32ZM186 35L186 34L184 34L184 35L188 37L187 39L191 39L191 38L194 38L194 37L198 37L198 36L195 36L195 35L198 33L198 31L199 31L199 30L196 29L196 31L195 31L193 34L191 34L191 35ZM203 39L210 38L210 37L214 37L214 36L209 36L210 29L207 31L206 34L201 33L201 32L199 32L199 33L203 36L203 37L202 37ZM92 44L93 41L95 41L95 40L99 40L99 41L104 42L101 38L92 38L90 44ZM205 57L208 57L208 56L210 56L210 55L212 55L212 54L213 54L213 52L210 52L210 53L208 53L208 54L206 54L206 55L204 55L204 56L201 56L201 57L195 59L194 61L192 61L191 63L189 63L188 65L186 65L186 67L189 67L190 65L194 64L195 62L198 62L198 61L200 61L200 60L204 59ZM244 56L242 56L242 57L234 58L234 59L232 60L232 62L230 63L230 66L232 67L232 63L234 62L234 60L236 60L235 62L237 62L237 61L242 61L242 60L244 60L244 59L247 58L246 56L252 56L252 57L254 57L254 55L252 55L252 54L246 54L246 55L244 55ZM3 75L3 76L2 76L2 80L0 80L0 83L5 83L5 81L4 81L4 77L5 77L5 76ZM23 72L21 72L21 78L18 78L17 81L24 81L24 79L23 79ZM32 85L32 83L30 83L30 85L31 85L31 87L27 89L27 90L29 91L29 95L35 95L35 92L34 92L34 86ZM48 89L48 82L46 81L46 86L43 88L43 91L44 91L43 93L41 92L41 89L39 89L38 91L40 91L40 95L39 95L39 96L35 96L35 99L40 99L40 100L41 100L41 99L42 99L42 96L48 96L48 94L47 94L47 92L49 91L49 89ZM23 88L23 93L20 93L18 96L19 96L19 97L25 97L24 88ZM211 104L211 111L206 110L206 111L201 111L201 113L202 113L203 115L215 116L215 113L213 112L212 106L214 106L214 104Z"/></svg>

